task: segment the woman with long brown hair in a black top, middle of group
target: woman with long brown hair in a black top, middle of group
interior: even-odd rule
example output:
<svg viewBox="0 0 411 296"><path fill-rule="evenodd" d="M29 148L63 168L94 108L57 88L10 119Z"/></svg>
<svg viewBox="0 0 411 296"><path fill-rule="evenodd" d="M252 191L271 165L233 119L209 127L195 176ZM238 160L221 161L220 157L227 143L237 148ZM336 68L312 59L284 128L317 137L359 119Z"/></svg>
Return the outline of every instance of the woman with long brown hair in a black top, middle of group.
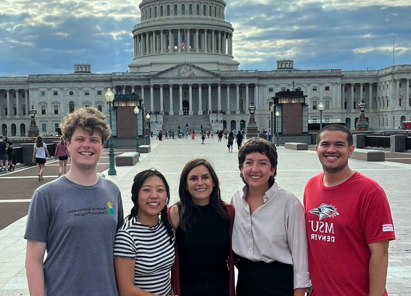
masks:
<svg viewBox="0 0 411 296"><path fill-rule="evenodd" d="M203 158L189 161L181 172L178 193L180 201L168 210L175 229L174 293L234 296L234 207L221 200L212 165Z"/></svg>

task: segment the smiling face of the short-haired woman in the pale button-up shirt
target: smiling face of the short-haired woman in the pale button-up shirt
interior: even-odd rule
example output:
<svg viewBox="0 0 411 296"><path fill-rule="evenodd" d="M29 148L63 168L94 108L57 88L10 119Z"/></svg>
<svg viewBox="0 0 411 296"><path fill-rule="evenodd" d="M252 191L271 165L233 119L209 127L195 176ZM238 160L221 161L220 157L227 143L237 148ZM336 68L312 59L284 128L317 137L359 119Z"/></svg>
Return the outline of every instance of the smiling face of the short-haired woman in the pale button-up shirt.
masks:
<svg viewBox="0 0 411 296"><path fill-rule="evenodd" d="M271 166L270 159L260 152L252 152L245 156L241 173L249 187L264 186L268 190L268 179L274 175L276 168Z"/></svg>

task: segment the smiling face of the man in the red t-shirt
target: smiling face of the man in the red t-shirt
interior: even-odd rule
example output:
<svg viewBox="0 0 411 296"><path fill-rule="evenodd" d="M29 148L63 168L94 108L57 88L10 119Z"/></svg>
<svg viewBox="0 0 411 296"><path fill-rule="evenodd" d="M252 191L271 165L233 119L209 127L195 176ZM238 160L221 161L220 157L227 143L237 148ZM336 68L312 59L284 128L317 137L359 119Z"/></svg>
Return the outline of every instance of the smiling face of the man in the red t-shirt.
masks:
<svg viewBox="0 0 411 296"><path fill-rule="evenodd" d="M321 133L319 144L315 146L318 158L325 172L337 172L348 167L348 158L354 146L348 145L347 134L342 131Z"/></svg>

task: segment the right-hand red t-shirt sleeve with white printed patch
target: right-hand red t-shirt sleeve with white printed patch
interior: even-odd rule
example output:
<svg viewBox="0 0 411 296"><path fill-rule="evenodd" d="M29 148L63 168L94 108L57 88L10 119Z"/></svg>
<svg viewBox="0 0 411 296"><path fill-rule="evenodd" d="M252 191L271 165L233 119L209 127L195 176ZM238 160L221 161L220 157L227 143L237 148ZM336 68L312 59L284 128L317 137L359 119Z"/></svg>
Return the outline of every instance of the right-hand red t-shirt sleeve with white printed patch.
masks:
<svg viewBox="0 0 411 296"><path fill-rule="evenodd" d="M381 240L395 240L390 205L382 189L373 191L365 199L362 220L367 244Z"/></svg>

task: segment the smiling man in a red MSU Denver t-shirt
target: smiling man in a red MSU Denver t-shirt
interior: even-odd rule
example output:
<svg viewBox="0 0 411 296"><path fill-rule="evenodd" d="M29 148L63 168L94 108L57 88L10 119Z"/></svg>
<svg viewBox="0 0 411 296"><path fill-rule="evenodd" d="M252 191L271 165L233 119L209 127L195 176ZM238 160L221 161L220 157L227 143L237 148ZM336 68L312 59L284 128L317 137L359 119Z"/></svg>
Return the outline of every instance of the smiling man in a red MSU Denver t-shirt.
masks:
<svg viewBox="0 0 411 296"><path fill-rule="evenodd" d="M395 240L387 196L377 182L351 170L353 136L330 124L317 135L324 172L304 191L311 296L388 296L388 243Z"/></svg>

